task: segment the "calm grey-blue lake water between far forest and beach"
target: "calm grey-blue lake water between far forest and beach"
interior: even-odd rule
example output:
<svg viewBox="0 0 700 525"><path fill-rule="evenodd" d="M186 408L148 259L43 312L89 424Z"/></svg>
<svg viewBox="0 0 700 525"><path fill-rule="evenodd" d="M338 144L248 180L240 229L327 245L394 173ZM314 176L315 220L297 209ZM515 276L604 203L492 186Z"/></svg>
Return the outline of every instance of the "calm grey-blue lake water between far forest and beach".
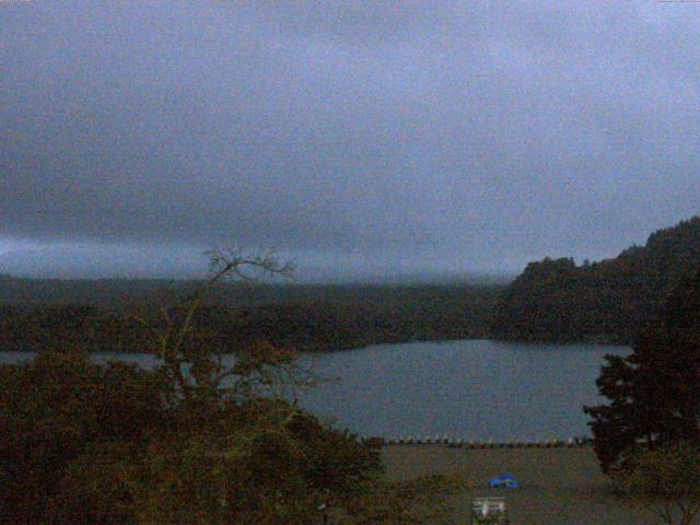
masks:
<svg viewBox="0 0 700 525"><path fill-rule="evenodd" d="M582 407L602 400L595 380L603 357L629 351L464 340L303 355L302 364L339 380L303 393L300 404L364 435L494 441L587 435ZM0 352L0 362L31 357ZM94 359L154 364L139 354Z"/></svg>

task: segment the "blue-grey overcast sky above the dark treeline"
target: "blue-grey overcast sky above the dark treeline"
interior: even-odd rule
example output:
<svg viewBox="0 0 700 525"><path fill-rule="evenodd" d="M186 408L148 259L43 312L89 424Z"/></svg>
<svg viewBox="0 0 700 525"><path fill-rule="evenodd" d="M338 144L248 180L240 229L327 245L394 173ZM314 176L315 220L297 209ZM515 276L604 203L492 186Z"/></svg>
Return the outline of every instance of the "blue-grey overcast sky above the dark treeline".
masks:
<svg viewBox="0 0 700 525"><path fill-rule="evenodd" d="M0 0L0 271L518 271L700 212L700 3Z"/></svg>

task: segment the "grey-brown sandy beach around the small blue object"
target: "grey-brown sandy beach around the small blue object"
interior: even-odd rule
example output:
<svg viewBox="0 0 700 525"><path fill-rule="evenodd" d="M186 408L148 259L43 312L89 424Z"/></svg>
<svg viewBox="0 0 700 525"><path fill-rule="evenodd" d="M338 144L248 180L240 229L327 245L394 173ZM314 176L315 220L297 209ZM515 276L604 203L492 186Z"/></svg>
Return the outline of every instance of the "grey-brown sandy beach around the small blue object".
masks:
<svg viewBox="0 0 700 525"><path fill-rule="evenodd" d="M630 509L609 492L590 446L581 448L452 448L446 445L389 445L384 452L393 479L458 472L474 489L456 497L455 523L470 523L472 495L501 495L513 525L653 524L655 517ZM517 489L492 490L491 477L511 472Z"/></svg>

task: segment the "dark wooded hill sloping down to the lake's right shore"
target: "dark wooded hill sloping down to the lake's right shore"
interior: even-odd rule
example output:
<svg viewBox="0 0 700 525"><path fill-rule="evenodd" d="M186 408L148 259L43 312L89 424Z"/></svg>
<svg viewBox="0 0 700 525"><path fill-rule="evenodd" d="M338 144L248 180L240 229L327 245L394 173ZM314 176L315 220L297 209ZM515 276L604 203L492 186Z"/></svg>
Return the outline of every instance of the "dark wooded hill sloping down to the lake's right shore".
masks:
<svg viewBox="0 0 700 525"><path fill-rule="evenodd" d="M494 338L518 341L630 343L660 318L666 299L700 268L700 217L652 233L612 259L572 258L527 265L501 294Z"/></svg>

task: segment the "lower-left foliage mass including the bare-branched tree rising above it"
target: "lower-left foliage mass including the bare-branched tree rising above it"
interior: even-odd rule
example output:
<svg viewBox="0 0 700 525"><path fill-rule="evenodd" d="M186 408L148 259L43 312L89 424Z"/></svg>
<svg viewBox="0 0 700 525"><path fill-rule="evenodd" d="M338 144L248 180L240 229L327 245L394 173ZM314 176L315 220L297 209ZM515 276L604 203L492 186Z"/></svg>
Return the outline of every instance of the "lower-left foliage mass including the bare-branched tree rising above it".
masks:
<svg viewBox="0 0 700 525"><path fill-rule="evenodd" d="M441 510L450 485L386 481L380 440L282 395L314 380L293 350L208 336L198 315L219 280L245 265L288 271L237 253L212 260L213 277L160 324L133 316L154 370L92 362L72 337L104 328L91 308L66 313L77 328L33 361L0 366L0 524L418 524Z"/></svg>

